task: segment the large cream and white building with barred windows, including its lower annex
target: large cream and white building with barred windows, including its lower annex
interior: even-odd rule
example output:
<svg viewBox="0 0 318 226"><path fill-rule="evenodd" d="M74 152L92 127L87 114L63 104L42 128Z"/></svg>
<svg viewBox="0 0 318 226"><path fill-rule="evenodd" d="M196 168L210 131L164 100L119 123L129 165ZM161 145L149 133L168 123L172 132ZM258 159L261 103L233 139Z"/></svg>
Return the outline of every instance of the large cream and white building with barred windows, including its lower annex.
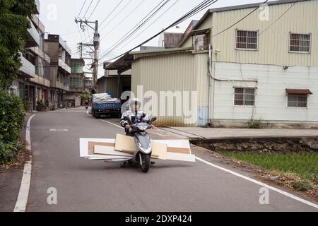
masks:
<svg viewBox="0 0 318 226"><path fill-rule="evenodd" d="M208 10L179 48L131 52L107 69L121 69L130 57L133 93L142 85L149 100L148 91L171 91L172 107L155 107L159 125L233 127L260 119L264 126L317 128L318 1L259 6ZM178 102L193 100L196 109L183 106L179 114Z"/></svg>

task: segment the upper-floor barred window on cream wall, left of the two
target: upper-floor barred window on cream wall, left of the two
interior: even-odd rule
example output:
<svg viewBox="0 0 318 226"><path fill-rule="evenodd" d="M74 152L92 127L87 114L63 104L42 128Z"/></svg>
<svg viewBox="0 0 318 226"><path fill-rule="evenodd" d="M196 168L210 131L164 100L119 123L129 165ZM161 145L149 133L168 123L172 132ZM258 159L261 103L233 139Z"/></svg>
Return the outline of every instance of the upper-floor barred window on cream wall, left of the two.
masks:
<svg viewBox="0 0 318 226"><path fill-rule="evenodd" d="M236 48L237 49L257 49L257 31L237 30Z"/></svg>

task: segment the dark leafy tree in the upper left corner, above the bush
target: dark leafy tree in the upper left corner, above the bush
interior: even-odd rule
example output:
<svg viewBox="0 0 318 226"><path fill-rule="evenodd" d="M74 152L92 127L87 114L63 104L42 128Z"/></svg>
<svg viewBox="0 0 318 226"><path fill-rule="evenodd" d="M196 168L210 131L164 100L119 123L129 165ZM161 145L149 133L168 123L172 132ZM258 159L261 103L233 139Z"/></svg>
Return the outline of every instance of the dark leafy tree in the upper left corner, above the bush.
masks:
<svg viewBox="0 0 318 226"><path fill-rule="evenodd" d="M8 90L17 78L20 52L25 47L25 35L35 12L34 0L0 1L0 88Z"/></svg>

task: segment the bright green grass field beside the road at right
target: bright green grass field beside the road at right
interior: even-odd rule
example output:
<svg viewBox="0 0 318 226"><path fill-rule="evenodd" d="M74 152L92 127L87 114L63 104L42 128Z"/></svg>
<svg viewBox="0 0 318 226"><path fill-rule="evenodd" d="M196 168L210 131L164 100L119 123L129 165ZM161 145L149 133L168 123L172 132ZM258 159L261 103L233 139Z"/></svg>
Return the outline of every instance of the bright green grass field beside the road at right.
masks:
<svg viewBox="0 0 318 226"><path fill-rule="evenodd" d="M222 152L221 154L266 169L298 174L303 179L318 183L318 153Z"/></svg>

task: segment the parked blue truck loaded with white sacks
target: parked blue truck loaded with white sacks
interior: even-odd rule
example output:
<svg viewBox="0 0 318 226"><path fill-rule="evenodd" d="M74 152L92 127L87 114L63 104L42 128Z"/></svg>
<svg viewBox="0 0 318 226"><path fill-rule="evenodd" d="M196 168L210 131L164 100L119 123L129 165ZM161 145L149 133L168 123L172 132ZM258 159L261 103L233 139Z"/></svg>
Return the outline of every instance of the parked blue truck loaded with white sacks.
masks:
<svg viewBox="0 0 318 226"><path fill-rule="evenodd" d="M92 115L96 119L102 115L122 117L122 103L107 93L95 94L93 95Z"/></svg>

